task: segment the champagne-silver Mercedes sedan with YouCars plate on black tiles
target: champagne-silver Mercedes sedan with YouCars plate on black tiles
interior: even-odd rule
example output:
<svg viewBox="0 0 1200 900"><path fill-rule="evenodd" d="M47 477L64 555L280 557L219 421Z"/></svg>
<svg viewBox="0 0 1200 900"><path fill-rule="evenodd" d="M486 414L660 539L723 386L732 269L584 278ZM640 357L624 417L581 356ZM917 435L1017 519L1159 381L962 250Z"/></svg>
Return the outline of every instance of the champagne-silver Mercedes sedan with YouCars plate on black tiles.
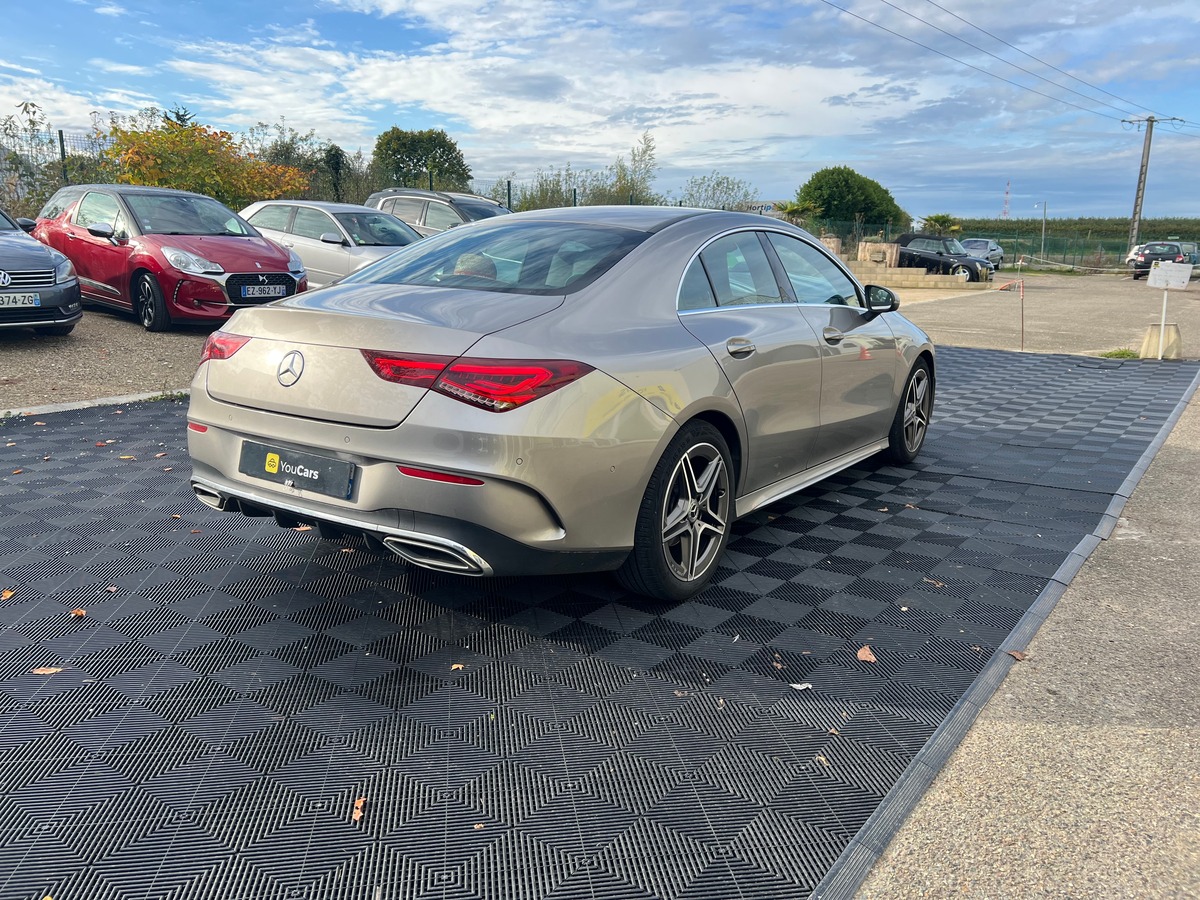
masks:
<svg viewBox="0 0 1200 900"><path fill-rule="evenodd" d="M682 600L739 516L875 454L916 457L935 353L898 306L763 216L461 226L214 332L192 486L430 569L614 570Z"/></svg>

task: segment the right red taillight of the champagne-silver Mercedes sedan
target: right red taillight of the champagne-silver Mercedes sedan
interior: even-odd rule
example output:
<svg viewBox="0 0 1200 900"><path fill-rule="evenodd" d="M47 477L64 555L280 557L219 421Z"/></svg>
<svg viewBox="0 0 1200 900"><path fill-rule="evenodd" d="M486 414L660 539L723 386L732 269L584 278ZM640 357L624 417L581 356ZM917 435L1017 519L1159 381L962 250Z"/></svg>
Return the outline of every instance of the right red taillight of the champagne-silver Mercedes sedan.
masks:
<svg viewBox="0 0 1200 900"><path fill-rule="evenodd" d="M505 413L575 382L592 366L574 360L470 359L362 350L386 382L427 388L448 397Z"/></svg>

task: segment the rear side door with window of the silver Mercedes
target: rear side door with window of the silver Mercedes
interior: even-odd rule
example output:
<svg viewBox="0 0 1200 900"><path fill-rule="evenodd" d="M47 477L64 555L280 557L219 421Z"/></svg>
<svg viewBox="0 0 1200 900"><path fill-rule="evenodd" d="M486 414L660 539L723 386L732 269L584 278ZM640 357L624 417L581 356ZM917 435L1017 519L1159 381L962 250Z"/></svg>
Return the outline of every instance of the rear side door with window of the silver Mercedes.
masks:
<svg viewBox="0 0 1200 900"><path fill-rule="evenodd" d="M756 491L803 472L820 427L817 336L780 289L758 232L718 238L692 260L679 319L720 364L742 406L745 481Z"/></svg>

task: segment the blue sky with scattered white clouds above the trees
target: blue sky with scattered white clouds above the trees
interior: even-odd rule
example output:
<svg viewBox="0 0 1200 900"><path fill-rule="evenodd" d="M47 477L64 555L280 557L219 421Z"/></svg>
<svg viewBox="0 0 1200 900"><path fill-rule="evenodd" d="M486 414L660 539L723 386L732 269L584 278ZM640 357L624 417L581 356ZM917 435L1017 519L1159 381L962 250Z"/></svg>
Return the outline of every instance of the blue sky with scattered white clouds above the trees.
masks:
<svg viewBox="0 0 1200 900"><path fill-rule="evenodd" d="M1200 4L1076 0L6 0L0 116L186 107L370 154L444 128L479 179L599 169L787 199L850 166L917 217L1200 216ZM1177 118L1182 121L1168 121ZM1130 120L1130 121L1122 121Z"/></svg>

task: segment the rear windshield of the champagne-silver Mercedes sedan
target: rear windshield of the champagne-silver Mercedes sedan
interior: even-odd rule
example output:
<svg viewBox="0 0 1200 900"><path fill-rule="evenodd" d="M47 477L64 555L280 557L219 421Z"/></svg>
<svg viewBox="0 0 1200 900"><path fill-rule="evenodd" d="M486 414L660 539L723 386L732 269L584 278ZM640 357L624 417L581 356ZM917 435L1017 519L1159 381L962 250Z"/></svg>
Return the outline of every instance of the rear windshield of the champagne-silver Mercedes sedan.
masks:
<svg viewBox="0 0 1200 900"><path fill-rule="evenodd" d="M570 294L604 275L649 234L563 222L460 226L342 278L342 284L419 284L511 294Z"/></svg>

